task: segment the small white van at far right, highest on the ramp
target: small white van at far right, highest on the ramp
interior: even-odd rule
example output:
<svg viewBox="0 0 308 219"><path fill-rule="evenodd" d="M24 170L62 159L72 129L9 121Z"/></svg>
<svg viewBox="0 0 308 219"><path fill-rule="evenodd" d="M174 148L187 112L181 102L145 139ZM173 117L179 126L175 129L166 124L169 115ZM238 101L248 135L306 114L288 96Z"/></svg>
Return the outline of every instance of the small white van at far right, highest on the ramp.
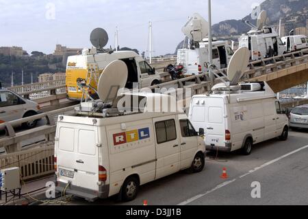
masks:
<svg viewBox="0 0 308 219"><path fill-rule="evenodd" d="M287 52L308 48L308 38L305 35L283 36L281 41Z"/></svg>

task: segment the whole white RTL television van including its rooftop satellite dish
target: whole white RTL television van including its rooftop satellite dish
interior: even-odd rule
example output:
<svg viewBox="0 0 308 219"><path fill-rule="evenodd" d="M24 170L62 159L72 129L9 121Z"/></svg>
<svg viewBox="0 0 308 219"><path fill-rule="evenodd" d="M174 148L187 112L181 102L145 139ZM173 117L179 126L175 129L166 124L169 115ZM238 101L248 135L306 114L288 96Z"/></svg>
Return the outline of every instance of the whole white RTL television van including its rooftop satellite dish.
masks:
<svg viewBox="0 0 308 219"><path fill-rule="evenodd" d="M126 80L125 62L110 63L99 80L101 100L81 103L75 115L59 116L55 134L58 192L89 201L119 194L129 201L136 198L140 185L180 170L203 170L203 138L181 108L163 111L156 104L162 99L176 106L176 101L155 93L119 96L118 88ZM127 104L135 99L137 107Z"/></svg>

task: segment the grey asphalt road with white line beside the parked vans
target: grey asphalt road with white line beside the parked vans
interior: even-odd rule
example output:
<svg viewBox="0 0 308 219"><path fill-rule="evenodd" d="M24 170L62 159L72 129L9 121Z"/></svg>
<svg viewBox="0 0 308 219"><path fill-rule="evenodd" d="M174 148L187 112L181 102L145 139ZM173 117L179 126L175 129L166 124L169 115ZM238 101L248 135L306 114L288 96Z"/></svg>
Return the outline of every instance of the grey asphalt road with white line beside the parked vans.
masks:
<svg viewBox="0 0 308 219"><path fill-rule="evenodd" d="M205 170L179 172L140 187L136 200L118 203L114 197L88 203L73 198L69 205L308 205L308 130L290 132L287 141L260 143L250 156L239 152L209 153ZM229 178L222 179L222 168ZM261 198L252 198L259 182Z"/></svg>

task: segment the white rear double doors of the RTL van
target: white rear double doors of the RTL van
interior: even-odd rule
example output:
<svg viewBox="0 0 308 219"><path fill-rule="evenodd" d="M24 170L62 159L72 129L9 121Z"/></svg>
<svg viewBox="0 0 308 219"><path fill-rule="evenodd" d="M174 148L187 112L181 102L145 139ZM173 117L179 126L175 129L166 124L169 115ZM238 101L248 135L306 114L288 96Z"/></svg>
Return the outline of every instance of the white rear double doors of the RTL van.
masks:
<svg viewBox="0 0 308 219"><path fill-rule="evenodd" d="M97 126L59 123L55 142L59 181L97 190Z"/></svg>

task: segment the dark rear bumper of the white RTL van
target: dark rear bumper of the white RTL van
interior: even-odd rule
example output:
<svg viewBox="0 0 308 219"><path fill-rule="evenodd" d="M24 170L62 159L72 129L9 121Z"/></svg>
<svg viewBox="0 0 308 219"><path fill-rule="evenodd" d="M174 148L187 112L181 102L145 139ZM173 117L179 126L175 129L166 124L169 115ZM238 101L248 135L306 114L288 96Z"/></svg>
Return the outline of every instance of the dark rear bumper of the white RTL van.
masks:
<svg viewBox="0 0 308 219"><path fill-rule="evenodd" d="M64 191L66 187L66 183L62 183L60 181L56 182L55 192ZM71 194L73 196L77 196L79 198L85 198L86 200L93 202L98 198L108 198L109 196L109 185L99 185L99 191L95 191L92 189L86 189L84 187L79 187L75 185L68 185L65 190L66 194Z"/></svg>

